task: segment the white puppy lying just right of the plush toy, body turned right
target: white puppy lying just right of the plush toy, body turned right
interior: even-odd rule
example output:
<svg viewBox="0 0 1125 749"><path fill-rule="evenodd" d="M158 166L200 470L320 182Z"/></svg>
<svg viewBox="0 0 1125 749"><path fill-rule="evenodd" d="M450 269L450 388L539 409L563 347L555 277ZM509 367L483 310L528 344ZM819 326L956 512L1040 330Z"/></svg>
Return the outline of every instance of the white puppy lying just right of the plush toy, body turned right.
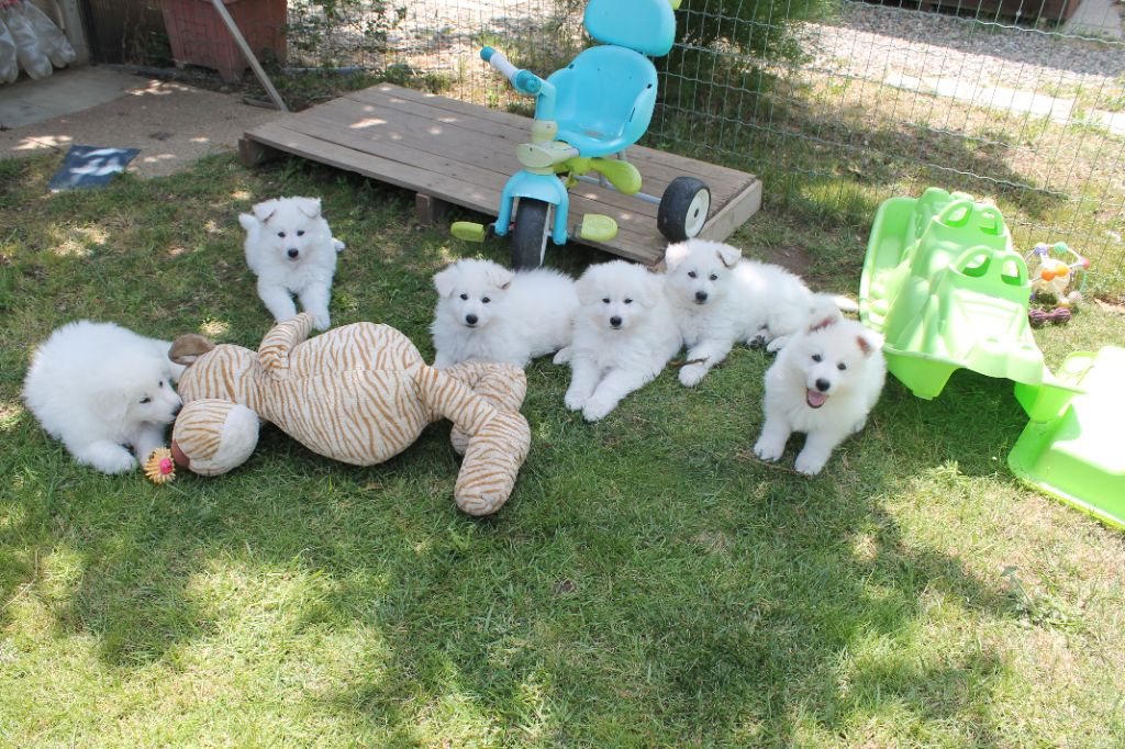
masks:
<svg viewBox="0 0 1125 749"><path fill-rule="evenodd" d="M526 367L570 343L574 279L548 268L512 272L489 260L458 260L433 277L433 346L439 369L462 361Z"/></svg>

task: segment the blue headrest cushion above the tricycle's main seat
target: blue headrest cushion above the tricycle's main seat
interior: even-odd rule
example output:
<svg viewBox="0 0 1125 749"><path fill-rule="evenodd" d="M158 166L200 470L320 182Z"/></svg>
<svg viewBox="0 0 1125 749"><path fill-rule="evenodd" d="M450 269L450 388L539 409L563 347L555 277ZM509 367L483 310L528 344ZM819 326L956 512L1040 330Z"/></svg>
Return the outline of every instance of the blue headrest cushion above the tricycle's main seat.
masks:
<svg viewBox="0 0 1125 749"><path fill-rule="evenodd" d="M654 57L668 54L676 38L676 17L668 0L590 0L583 22L602 44Z"/></svg>

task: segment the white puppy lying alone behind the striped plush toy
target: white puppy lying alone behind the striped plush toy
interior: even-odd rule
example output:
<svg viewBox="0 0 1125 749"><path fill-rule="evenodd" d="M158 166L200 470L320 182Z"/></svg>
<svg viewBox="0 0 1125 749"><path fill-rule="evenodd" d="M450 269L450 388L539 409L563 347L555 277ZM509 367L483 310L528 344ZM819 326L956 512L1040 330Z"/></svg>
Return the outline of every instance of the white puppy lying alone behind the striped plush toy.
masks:
<svg viewBox="0 0 1125 749"><path fill-rule="evenodd" d="M300 298L313 325L332 325L328 299L336 272L336 253L344 243L333 238L321 216L320 198L277 198L241 214L246 229L246 264L258 276L258 296L281 323L297 316L292 295Z"/></svg>

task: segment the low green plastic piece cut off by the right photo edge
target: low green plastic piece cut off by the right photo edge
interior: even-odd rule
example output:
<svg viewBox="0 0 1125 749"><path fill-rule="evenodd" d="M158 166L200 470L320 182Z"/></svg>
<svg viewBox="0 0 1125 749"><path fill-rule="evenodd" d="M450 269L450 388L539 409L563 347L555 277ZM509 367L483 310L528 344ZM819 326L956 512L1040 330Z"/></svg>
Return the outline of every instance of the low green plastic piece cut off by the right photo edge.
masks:
<svg viewBox="0 0 1125 749"><path fill-rule="evenodd" d="M1060 379L1080 386L1055 418L1030 422L1008 454L1011 472L1035 488L1125 529L1125 349L1073 353Z"/></svg>

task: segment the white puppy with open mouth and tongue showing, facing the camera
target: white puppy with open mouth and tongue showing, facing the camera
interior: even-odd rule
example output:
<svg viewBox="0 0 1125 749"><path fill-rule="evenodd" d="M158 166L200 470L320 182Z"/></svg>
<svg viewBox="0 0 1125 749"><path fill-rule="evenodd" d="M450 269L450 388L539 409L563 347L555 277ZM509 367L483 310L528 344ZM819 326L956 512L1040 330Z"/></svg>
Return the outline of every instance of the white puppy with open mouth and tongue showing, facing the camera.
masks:
<svg viewBox="0 0 1125 749"><path fill-rule="evenodd" d="M816 475L832 450L867 423L886 379L882 336L824 308L766 371L765 424L754 453L777 460L793 432L804 432L794 468Z"/></svg>

